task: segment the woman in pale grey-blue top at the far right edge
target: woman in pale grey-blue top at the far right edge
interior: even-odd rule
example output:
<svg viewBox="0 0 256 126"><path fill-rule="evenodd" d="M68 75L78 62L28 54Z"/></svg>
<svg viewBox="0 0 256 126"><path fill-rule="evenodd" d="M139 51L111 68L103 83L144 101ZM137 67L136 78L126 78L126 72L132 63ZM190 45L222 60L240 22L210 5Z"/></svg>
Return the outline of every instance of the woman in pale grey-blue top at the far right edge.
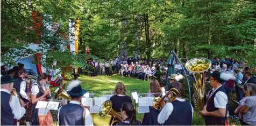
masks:
<svg viewBox="0 0 256 126"><path fill-rule="evenodd" d="M254 83L247 83L244 90L250 94L245 101L243 108L241 108L240 115L243 115L241 125L256 125L256 85Z"/></svg>

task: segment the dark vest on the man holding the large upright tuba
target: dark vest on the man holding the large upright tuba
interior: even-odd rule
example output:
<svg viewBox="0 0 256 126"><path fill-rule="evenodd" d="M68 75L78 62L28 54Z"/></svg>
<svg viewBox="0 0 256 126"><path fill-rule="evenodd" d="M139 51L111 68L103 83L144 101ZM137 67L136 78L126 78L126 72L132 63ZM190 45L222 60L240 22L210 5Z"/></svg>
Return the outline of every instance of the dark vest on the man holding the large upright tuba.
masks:
<svg viewBox="0 0 256 126"><path fill-rule="evenodd" d="M208 98L208 101L207 101L206 110L208 112L214 112L218 110L218 108L216 108L214 105L214 98L218 91L222 91L226 94L226 90L223 85L219 87L214 93L212 93L211 97L209 96L210 98ZM211 94L211 92L212 90L209 92L209 95ZM226 114L227 114L227 104L226 104ZM204 118L204 121L206 124L213 124L213 125L222 125L225 120L226 120L226 115L225 117L205 116Z"/></svg>

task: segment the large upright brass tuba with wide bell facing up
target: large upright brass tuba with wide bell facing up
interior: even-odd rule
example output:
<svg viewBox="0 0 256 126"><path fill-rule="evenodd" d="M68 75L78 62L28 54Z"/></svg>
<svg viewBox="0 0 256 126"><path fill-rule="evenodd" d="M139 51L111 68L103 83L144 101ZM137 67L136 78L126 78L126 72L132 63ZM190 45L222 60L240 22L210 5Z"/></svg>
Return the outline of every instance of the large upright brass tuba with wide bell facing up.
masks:
<svg viewBox="0 0 256 126"><path fill-rule="evenodd" d="M205 106L205 74L211 67L211 61L206 58L194 58L189 60L185 67L195 77L193 99L198 111L202 111Z"/></svg>

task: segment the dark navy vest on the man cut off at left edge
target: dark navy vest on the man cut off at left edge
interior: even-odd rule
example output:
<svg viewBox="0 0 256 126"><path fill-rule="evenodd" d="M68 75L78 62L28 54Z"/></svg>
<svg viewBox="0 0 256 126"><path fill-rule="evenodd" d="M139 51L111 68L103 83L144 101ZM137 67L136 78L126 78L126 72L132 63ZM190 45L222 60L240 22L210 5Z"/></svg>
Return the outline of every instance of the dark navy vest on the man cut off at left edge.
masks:
<svg viewBox="0 0 256 126"><path fill-rule="evenodd" d="M9 104L11 94L1 91L1 125L13 125L14 115Z"/></svg>

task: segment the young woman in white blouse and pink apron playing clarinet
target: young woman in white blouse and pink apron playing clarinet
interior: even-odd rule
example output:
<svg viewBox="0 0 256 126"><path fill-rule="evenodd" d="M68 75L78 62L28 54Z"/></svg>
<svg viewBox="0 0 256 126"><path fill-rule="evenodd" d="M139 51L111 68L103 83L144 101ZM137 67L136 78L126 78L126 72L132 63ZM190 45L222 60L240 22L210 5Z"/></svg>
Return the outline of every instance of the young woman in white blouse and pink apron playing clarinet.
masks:
<svg viewBox="0 0 256 126"><path fill-rule="evenodd" d="M37 102L42 99L45 101L46 97L49 97L51 90L47 89L46 82L48 80L48 75L46 73L41 73L38 75L37 83L34 83L31 89L31 103L33 104L33 114L31 119L31 125L53 125L53 119L51 112L47 112L46 115L38 115L39 110L35 108ZM40 119L39 119L40 118Z"/></svg>

